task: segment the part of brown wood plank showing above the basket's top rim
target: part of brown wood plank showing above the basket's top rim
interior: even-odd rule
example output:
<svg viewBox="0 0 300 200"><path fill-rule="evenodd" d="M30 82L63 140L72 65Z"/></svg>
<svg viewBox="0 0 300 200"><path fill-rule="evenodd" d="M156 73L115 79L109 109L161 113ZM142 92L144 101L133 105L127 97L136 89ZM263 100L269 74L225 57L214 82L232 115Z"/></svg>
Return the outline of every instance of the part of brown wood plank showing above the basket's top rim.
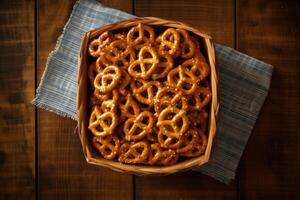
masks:
<svg viewBox="0 0 300 200"><path fill-rule="evenodd" d="M138 0L135 14L183 21L219 43L234 46L233 0Z"/></svg>

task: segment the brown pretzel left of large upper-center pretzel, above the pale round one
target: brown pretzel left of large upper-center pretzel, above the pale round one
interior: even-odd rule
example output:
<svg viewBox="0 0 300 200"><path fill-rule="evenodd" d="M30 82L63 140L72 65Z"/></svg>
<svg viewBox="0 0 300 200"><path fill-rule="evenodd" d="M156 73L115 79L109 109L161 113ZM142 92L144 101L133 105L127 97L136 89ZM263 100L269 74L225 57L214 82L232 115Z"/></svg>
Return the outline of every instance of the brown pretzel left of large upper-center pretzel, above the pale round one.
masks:
<svg viewBox="0 0 300 200"><path fill-rule="evenodd" d="M101 55L102 62L109 66L115 65L119 68L127 68L129 63L135 60L133 50L128 47L126 40L115 40L106 46Z"/></svg>

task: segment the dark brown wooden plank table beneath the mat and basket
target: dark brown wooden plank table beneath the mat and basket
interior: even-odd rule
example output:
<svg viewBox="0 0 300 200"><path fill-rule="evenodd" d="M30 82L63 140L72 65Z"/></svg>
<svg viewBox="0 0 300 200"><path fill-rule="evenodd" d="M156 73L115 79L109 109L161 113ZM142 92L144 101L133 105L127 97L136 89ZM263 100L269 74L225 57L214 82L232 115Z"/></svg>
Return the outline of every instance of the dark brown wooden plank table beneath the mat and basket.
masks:
<svg viewBox="0 0 300 200"><path fill-rule="evenodd" d="M75 0L0 6L0 199L300 199L300 2L105 0L182 20L274 65L269 97L230 185L196 172L137 177L88 165L75 121L31 105Z"/></svg>

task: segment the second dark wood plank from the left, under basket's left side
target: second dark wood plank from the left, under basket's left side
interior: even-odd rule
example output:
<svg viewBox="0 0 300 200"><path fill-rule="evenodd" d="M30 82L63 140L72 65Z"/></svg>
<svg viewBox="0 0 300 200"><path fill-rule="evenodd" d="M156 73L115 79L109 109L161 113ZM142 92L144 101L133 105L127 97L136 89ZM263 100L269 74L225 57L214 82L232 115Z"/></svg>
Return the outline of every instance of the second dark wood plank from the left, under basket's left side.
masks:
<svg viewBox="0 0 300 200"><path fill-rule="evenodd" d="M39 1L39 79L74 3ZM38 120L42 199L132 199L132 176L86 163L79 138L73 134L75 121L43 110L39 110Z"/></svg>

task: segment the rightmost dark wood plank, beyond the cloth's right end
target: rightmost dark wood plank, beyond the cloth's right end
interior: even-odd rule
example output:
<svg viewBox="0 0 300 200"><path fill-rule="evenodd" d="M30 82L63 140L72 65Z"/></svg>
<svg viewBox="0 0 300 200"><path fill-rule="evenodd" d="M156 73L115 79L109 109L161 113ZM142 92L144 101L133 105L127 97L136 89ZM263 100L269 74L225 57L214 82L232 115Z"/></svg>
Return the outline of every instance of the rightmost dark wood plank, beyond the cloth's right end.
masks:
<svg viewBox="0 0 300 200"><path fill-rule="evenodd" d="M241 199L300 199L300 2L238 1L238 49L274 65L244 154Z"/></svg>

